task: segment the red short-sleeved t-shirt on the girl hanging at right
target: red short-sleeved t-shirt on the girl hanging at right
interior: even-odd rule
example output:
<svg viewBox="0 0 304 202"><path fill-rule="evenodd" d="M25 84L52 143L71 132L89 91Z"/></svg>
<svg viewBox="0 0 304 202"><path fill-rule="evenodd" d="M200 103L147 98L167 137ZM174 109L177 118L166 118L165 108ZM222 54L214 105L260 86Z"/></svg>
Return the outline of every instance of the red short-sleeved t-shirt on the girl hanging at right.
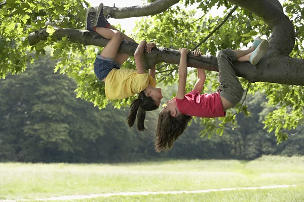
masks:
<svg viewBox="0 0 304 202"><path fill-rule="evenodd" d="M226 112L223 111L219 92L200 94L199 91L193 90L183 99L175 97L177 109L189 116L214 118L224 117Z"/></svg>

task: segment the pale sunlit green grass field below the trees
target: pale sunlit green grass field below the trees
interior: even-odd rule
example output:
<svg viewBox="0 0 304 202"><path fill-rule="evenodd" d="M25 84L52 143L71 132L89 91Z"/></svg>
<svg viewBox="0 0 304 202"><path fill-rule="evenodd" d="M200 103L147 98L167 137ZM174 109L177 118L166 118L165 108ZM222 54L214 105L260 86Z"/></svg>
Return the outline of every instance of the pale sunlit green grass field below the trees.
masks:
<svg viewBox="0 0 304 202"><path fill-rule="evenodd" d="M110 196L77 201L304 201L304 157L130 164L0 164L1 199L109 192L296 185L208 193ZM61 200L62 201L62 200Z"/></svg>

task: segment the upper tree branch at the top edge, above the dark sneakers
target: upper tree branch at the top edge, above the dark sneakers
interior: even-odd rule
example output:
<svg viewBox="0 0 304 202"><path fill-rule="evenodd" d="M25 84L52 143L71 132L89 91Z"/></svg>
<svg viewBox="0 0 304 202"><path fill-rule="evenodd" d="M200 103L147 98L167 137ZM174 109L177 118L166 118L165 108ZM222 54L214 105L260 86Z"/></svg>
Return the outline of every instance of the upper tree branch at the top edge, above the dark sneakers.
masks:
<svg viewBox="0 0 304 202"><path fill-rule="evenodd" d="M179 0L157 0L153 3L143 6L132 6L124 8L104 6L104 14L110 15L111 18L116 19L150 16L162 13L178 2Z"/></svg>

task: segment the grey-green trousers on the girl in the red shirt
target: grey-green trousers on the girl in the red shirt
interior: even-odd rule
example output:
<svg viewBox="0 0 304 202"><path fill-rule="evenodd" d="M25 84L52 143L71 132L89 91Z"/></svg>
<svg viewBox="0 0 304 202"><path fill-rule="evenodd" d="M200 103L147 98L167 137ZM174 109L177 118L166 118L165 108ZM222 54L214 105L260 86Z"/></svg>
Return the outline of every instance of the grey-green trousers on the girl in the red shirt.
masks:
<svg viewBox="0 0 304 202"><path fill-rule="evenodd" d="M235 60L236 54L230 48L219 51L217 56L219 81L217 90L220 96L227 99L233 106L241 101L244 92L233 65Z"/></svg>

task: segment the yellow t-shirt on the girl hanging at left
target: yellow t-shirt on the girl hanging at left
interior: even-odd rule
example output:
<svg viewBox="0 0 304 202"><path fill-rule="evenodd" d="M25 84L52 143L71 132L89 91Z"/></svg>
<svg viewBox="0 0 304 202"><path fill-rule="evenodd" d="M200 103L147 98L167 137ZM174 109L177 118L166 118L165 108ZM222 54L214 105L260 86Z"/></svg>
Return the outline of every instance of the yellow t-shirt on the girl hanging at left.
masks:
<svg viewBox="0 0 304 202"><path fill-rule="evenodd" d="M124 99L140 93L148 84L156 86L149 74L137 74L133 69L112 69L105 79L105 96L108 99Z"/></svg>

